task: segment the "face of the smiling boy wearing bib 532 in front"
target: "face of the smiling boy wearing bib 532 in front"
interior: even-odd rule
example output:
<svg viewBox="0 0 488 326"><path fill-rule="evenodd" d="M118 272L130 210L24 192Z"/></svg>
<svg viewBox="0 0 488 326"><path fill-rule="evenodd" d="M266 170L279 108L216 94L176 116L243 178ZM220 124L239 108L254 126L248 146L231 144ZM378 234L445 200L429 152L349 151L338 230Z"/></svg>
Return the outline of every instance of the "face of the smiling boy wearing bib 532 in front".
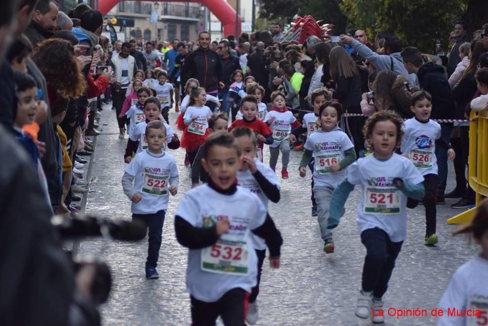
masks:
<svg viewBox="0 0 488 326"><path fill-rule="evenodd" d="M210 148L207 158L202 159L202 165L212 181L223 190L234 184L241 168L237 149L219 145Z"/></svg>

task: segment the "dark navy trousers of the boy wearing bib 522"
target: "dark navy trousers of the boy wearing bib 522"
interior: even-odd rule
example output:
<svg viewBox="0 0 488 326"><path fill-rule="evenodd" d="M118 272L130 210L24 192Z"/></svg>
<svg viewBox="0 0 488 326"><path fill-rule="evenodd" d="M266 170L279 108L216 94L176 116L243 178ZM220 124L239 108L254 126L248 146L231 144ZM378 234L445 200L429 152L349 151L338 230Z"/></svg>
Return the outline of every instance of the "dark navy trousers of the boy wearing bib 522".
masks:
<svg viewBox="0 0 488 326"><path fill-rule="evenodd" d="M163 224L166 212L160 210L154 214L132 214L133 221L139 221L149 228L146 267L156 267L159 259L159 249L163 241Z"/></svg>

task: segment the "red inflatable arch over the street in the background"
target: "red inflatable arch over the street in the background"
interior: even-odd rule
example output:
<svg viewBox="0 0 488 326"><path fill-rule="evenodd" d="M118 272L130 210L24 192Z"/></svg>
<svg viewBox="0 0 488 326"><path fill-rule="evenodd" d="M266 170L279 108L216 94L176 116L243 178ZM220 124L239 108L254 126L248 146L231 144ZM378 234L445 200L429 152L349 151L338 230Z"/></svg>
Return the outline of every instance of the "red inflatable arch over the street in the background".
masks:
<svg viewBox="0 0 488 326"><path fill-rule="evenodd" d="M106 15L121 0L99 0L99 10ZM141 0L137 0L141 1ZM169 2L168 0L156 0L160 2ZM185 0L188 2L200 2L205 5L224 26L224 36L234 35L236 26L236 11L227 3L226 0ZM174 1L172 1L174 2ZM183 2L183 1L180 1ZM241 34L241 17L239 17L239 29L236 39Z"/></svg>

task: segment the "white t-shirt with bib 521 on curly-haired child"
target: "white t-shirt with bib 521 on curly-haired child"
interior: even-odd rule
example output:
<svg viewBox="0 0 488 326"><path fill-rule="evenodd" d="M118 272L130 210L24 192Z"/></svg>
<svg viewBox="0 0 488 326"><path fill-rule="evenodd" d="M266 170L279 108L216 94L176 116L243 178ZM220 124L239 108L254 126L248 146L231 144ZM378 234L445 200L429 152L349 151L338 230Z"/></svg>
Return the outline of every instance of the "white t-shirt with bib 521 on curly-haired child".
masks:
<svg viewBox="0 0 488 326"><path fill-rule="evenodd" d="M395 187L395 178L411 184L424 181L413 163L398 154L386 161L371 154L347 168L347 181L362 188L357 219L360 233L379 227L392 242L407 238L407 196Z"/></svg>

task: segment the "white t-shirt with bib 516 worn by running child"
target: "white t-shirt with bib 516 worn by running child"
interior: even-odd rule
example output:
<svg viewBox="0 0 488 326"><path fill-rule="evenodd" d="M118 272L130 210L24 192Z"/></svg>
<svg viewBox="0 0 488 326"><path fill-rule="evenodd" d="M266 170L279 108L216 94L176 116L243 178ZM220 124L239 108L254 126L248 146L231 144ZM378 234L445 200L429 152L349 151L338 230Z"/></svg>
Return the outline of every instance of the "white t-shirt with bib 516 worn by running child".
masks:
<svg viewBox="0 0 488 326"><path fill-rule="evenodd" d="M313 182L317 186L335 188L346 177L346 169L332 172L330 165L339 163L346 157L344 152L354 148L349 137L339 127L329 132L318 130L307 137L305 149L313 151L315 166Z"/></svg>

